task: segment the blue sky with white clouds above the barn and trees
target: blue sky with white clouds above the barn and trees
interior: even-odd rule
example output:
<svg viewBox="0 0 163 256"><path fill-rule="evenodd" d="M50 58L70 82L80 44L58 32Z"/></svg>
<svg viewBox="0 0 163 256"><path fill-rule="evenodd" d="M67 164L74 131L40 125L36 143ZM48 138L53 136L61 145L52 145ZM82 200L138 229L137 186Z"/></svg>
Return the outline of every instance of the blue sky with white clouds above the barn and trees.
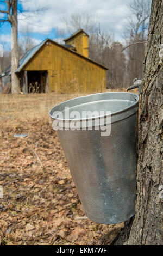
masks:
<svg viewBox="0 0 163 256"><path fill-rule="evenodd" d="M57 29L65 29L62 17L68 20L71 14L89 13L96 16L101 31L109 31L115 41L122 41L127 23L126 17L129 13L127 5L130 2L131 0L21 0L18 1L20 10L18 12L18 38L21 40L28 29L28 35L35 44L39 44L46 38L59 41L61 35L57 33ZM2 8L1 4L0 8ZM45 10L40 14L29 13L39 8L45 8ZM28 12L22 13L21 10L28 10ZM0 18L2 17L1 15ZM0 27L0 43L4 45L4 48L10 48L11 25L8 22Z"/></svg>

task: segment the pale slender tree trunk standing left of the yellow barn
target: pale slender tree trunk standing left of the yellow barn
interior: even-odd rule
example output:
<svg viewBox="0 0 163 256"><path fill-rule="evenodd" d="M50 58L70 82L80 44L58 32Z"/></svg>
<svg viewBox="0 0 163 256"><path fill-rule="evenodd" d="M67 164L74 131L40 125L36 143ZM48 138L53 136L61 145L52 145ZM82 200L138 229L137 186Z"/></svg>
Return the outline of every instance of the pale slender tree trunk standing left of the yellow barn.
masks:
<svg viewBox="0 0 163 256"><path fill-rule="evenodd" d="M11 83L12 94L20 92L20 80L15 74L18 68L18 45L17 45L17 0L12 3L12 20L11 20Z"/></svg>

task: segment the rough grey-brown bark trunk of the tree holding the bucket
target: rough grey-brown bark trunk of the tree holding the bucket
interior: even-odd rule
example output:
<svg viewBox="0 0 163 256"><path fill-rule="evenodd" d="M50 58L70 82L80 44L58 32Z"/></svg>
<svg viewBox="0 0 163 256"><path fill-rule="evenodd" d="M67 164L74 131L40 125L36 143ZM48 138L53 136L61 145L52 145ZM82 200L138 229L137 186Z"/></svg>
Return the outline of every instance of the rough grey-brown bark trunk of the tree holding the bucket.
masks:
<svg viewBox="0 0 163 256"><path fill-rule="evenodd" d="M163 1L153 0L142 84L136 214L113 245L162 245Z"/></svg>

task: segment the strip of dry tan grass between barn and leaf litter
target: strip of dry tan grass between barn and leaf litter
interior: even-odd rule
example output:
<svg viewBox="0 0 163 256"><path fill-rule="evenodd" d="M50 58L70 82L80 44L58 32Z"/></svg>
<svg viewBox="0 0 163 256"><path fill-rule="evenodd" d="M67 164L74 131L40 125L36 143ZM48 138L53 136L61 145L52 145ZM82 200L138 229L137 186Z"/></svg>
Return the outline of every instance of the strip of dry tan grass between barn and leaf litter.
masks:
<svg viewBox="0 0 163 256"><path fill-rule="evenodd" d="M114 90L106 89L106 92L113 92ZM119 88L116 91L126 91L126 88ZM78 92L73 94L0 94L1 125L13 126L34 119L50 121L49 109L62 101L83 95L87 94Z"/></svg>

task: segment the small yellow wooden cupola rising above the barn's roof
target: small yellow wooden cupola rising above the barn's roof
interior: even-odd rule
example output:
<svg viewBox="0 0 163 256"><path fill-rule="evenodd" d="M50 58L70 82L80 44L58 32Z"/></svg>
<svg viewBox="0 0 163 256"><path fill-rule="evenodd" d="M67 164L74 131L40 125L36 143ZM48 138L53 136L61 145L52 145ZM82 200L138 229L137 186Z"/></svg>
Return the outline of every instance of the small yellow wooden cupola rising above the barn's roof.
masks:
<svg viewBox="0 0 163 256"><path fill-rule="evenodd" d="M70 49L76 51L79 54L82 54L84 57L89 57L89 47L88 47L88 38L89 35L86 34L82 28L78 29L71 36L66 38L65 46L71 46Z"/></svg>

